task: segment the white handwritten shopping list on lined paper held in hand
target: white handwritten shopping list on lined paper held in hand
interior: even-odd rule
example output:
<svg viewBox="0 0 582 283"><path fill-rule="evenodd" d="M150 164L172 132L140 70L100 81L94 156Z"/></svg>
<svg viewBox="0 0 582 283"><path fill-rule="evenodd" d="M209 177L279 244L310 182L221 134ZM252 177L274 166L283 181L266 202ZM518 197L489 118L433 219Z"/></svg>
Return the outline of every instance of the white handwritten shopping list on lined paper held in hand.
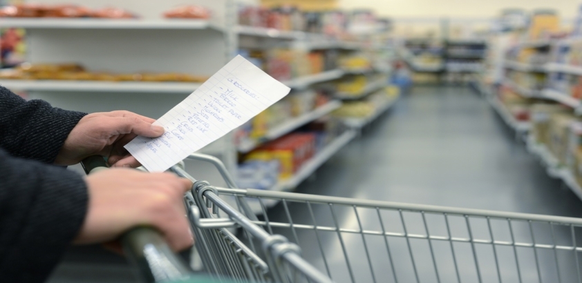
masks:
<svg viewBox="0 0 582 283"><path fill-rule="evenodd" d="M290 88L238 55L154 124L161 137L135 137L125 148L150 172L162 172L241 126Z"/></svg>

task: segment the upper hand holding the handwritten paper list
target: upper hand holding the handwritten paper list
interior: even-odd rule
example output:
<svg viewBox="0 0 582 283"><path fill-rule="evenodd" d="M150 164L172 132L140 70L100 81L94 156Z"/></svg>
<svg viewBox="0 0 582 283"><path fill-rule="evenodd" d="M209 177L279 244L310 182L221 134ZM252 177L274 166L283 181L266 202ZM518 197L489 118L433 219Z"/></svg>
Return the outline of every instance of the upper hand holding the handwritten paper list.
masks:
<svg viewBox="0 0 582 283"><path fill-rule="evenodd" d="M164 128L152 125L153 121L156 120L129 111L86 115L68 134L55 164L73 165L91 155L101 155L108 158L112 167L138 167L138 160L123 146L137 135L162 135Z"/></svg>

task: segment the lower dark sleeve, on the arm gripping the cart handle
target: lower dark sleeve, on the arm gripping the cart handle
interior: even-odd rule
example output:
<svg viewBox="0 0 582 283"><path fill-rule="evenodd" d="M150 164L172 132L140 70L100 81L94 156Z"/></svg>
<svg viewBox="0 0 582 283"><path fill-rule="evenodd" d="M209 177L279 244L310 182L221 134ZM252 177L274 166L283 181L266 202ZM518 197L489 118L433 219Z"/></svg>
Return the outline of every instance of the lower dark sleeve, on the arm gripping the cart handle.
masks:
<svg viewBox="0 0 582 283"><path fill-rule="evenodd" d="M86 214L83 178L0 149L0 282L44 282Z"/></svg>

